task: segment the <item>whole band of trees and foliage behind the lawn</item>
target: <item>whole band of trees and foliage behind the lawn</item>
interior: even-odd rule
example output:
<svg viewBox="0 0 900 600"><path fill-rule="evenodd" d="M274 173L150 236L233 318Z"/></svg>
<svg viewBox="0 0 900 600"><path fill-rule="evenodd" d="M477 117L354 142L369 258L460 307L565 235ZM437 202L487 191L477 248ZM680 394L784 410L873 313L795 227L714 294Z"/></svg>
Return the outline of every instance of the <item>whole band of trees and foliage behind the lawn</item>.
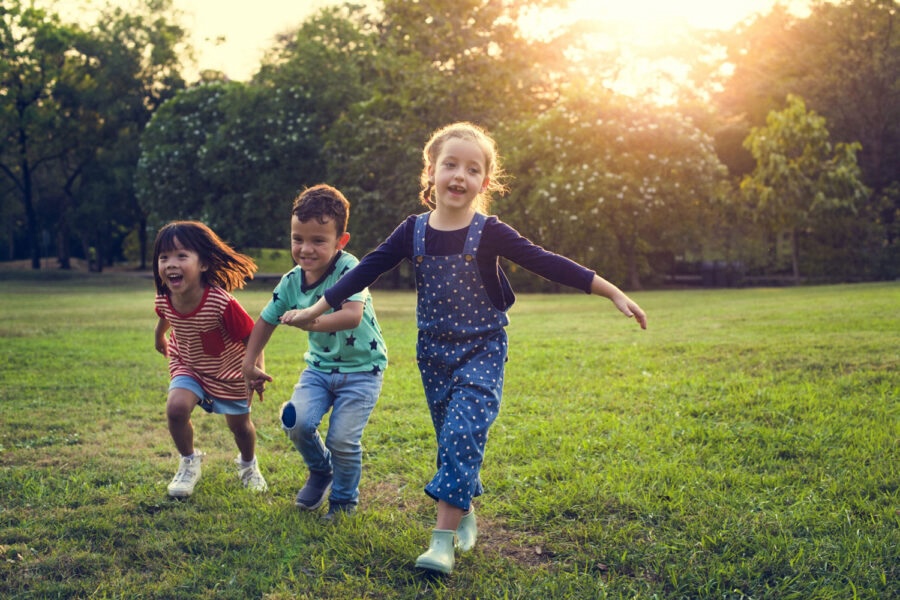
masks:
<svg viewBox="0 0 900 600"><path fill-rule="evenodd" d="M842 280L896 276L895 1L819 2L802 18L775 5L725 34L684 31L640 60L598 48L598 38L616 37L609 23L548 23L538 39L519 29L523 16L565 4L329 5L279 35L251 81L204 73L164 109L184 88L180 60L190 50L171 0L110 7L90 27L10 0L0 14L0 243L11 257L27 243L34 266L46 239L63 265L90 248L109 264L130 233L139 248L129 253L145 256L161 223L198 218L240 247L276 245L293 197L328 182L353 205L350 250L362 255L422 210L429 134L468 120L509 156L501 216L548 247L629 287L655 285L677 260L700 257L771 274L781 269L778 231L753 222L723 186L710 136L736 185L756 163L743 140L795 94L827 118L834 162L819 166L831 191L810 196L816 210L806 211L791 261ZM645 102L652 91L642 100L607 92L643 59L695 67L692 82L667 80L678 106ZM591 139L590 128L574 133L573 118L604 125ZM545 143L556 138L567 140L564 154ZM837 166L853 157L872 194L857 195L853 216L819 212L856 195L838 190L853 188L850 167ZM611 177L589 182L586 170ZM805 184L790 185L800 193ZM404 277L395 271L395 284Z"/></svg>

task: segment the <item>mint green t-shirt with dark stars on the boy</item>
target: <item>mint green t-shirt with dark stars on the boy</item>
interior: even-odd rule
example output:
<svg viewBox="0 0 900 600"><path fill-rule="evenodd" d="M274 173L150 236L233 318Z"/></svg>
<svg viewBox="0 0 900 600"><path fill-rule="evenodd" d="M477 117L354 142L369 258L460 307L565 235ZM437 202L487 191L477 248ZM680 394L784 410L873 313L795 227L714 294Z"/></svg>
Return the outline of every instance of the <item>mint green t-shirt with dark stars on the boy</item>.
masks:
<svg viewBox="0 0 900 600"><path fill-rule="evenodd" d="M262 318L278 325L279 317L289 310L315 304L322 293L359 262L355 256L340 251L319 281L303 283L303 270L297 266L282 276L272 292L272 299L262 310ZM309 368L324 373L381 373L387 368L387 347L381 327L375 318L372 295L368 289L355 294L347 302L363 302L363 318L356 329L334 333L308 332L309 348L303 355Z"/></svg>

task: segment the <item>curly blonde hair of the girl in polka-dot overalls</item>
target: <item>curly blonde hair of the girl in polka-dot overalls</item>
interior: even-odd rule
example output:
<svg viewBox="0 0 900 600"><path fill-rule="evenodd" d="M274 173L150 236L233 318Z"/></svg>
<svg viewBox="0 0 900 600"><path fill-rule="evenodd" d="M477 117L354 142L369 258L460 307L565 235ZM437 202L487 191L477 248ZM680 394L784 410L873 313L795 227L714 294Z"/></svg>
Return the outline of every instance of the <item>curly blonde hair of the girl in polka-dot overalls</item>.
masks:
<svg viewBox="0 0 900 600"><path fill-rule="evenodd" d="M497 143L487 131L474 123L465 121L451 123L450 125L441 127L431 134L431 139L425 144L425 149L422 151L424 165L422 167L422 175L419 178L419 182L422 185L422 204L432 209L435 207L434 184L431 182L431 177L428 172L437 162L437 158L441 153L441 148L443 148L444 144L451 139L474 142L478 144L481 151L484 153L484 170L485 174L490 179L488 181L487 189L478 194L474 205L475 210L486 212L490 205L491 194L494 192L502 194L506 191L506 186L502 182L504 173L500 165L500 155L497 152Z"/></svg>

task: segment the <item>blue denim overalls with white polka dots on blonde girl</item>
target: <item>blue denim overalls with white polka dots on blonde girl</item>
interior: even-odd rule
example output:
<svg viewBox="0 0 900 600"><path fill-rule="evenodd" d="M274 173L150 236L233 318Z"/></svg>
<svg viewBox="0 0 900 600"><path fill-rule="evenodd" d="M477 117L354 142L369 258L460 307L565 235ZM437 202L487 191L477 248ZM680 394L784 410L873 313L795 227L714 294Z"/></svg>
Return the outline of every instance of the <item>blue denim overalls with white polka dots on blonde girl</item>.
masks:
<svg viewBox="0 0 900 600"><path fill-rule="evenodd" d="M475 261L485 216L475 214L462 254L426 256L428 214L418 216L413 238L416 357L438 442L425 493L468 510L484 491L479 474L500 412L509 319L491 303Z"/></svg>

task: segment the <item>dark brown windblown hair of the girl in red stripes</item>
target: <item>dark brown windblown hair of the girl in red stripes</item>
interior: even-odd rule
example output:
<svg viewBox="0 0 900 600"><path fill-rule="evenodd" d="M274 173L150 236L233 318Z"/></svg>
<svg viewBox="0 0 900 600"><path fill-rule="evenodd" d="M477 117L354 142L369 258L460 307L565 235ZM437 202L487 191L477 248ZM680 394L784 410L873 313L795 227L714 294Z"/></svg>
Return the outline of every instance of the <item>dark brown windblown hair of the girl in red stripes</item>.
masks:
<svg viewBox="0 0 900 600"><path fill-rule="evenodd" d="M244 287L247 279L253 279L256 263L252 258L233 250L199 221L173 221L159 230L153 243L153 278L158 294L168 293L159 273L159 255L175 250L176 239L183 248L196 252L200 262L206 265L202 274L206 285L216 285L230 292Z"/></svg>

